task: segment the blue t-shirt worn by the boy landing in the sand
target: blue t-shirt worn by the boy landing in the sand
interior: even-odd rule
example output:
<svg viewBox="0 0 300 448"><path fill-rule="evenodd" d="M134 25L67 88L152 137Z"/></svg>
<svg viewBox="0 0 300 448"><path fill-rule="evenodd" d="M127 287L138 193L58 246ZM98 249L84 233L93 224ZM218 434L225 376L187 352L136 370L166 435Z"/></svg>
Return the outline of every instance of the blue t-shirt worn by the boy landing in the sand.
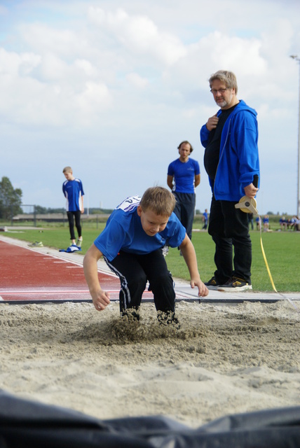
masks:
<svg viewBox="0 0 300 448"><path fill-rule="evenodd" d="M182 244L186 230L174 213L169 218L163 232L154 237L146 235L142 228L137 206L141 197L128 197L121 202L107 220L107 225L94 241L95 246L109 260L114 260L119 251L145 255L162 248L168 243L170 247Z"/></svg>

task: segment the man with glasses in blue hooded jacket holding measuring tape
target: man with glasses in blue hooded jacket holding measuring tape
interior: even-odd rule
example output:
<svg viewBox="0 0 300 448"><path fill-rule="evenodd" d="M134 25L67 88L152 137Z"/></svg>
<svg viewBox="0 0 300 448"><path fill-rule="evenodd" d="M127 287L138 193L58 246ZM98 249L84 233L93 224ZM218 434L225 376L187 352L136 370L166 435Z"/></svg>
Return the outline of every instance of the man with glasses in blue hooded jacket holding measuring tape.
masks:
<svg viewBox="0 0 300 448"><path fill-rule="evenodd" d="M209 83L220 109L201 128L200 140L212 188L208 233L215 244L217 269L205 285L239 292L252 289L248 218L235 205L245 195L254 198L258 191L253 183L254 176L259 177L257 112L238 99L231 71L217 71Z"/></svg>

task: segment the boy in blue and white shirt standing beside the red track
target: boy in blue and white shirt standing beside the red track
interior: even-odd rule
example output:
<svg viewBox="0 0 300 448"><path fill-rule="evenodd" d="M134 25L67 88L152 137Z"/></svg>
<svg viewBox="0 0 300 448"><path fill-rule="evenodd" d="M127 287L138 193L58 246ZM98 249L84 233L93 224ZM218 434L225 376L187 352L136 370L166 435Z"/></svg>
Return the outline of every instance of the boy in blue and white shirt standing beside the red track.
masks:
<svg viewBox="0 0 300 448"><path fill-rule="evenodd" d="M75 179L71 167L64 167L62 170L64 177L67 179L62 184L62 192L67 198L66 210L69 221L69 230L71 235L71 245L81 248L82 235L81 235L81 214L83 214L83 185L80 179ZM74 218L75 225L78 232L78 239L76 244L76 238L74 233Z"/></svg>

